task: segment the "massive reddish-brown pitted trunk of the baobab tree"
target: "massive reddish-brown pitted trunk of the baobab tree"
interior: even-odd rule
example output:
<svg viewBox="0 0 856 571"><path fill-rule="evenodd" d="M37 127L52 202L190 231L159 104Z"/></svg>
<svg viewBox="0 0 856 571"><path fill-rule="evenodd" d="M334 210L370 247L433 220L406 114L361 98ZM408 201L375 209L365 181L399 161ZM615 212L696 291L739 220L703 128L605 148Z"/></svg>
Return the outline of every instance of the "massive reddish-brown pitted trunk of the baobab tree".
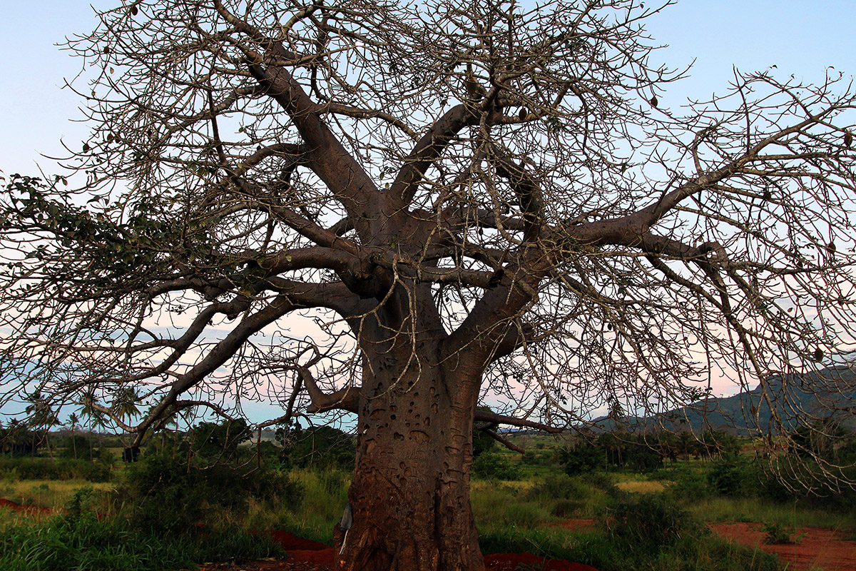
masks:
<svg viewBox="0 0 856 571"><path fill-rule="evenodd" d="M469 496L478 379L472 366L441 359L443 330L419 313L410 315L419 324L415 335L400 329L393 339L379 327L374 331L387 337L383 342L363 330L357 460L348 492L353 526L336 541L342 571L484 568Z"/></svg>

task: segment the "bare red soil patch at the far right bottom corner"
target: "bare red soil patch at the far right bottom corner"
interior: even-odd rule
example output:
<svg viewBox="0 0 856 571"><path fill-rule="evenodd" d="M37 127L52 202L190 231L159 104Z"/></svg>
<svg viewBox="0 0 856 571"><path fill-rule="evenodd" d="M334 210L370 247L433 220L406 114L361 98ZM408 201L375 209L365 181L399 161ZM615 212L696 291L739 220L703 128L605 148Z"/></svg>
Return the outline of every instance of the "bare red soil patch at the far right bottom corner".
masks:
<svg viewBox="0 0 856 571"><path fill-rule="evenodd" d="M764 544L766 534L759 523L712 523L710 529L723 538L740 544L776 553L788 563L788 571L808 571L812 567L823 571L853 571L856 569L856 541L844 539L841 533L820 527L798 527L791 534L797 543Z"/></svg>

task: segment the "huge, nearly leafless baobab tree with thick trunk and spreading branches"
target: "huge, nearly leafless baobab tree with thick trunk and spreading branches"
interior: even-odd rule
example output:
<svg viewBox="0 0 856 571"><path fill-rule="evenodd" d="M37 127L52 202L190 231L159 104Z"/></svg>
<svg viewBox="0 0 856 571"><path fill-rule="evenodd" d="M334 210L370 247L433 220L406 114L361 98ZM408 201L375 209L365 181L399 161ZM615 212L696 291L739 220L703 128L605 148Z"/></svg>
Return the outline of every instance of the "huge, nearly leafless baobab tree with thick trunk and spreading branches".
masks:
<svg viewBox="0 0 856 571"><path fill-rule="evenodd" d="M665 108L657 11L100 12L67 46L85 183L4 197L3 366L58 401L138 387L139 422L87 401L138 439L263 393L280 420L353 413L338 568L483 568L473 423L665 409L717 374L771 407L770 373L853 346L851 86L735 73Z"/></svg>

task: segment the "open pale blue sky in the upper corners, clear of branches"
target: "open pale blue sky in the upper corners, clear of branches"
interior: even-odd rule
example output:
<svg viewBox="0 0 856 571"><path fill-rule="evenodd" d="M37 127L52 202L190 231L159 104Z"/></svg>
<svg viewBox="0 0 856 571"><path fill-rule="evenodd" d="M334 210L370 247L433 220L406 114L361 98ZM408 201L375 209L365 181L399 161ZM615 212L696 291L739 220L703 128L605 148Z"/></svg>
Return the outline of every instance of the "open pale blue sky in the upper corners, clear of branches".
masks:
<svg viewBox="0 0 856 571"><path fill-rule="evenodd" d="M795 74L819 81L829 65L856 74L854 16L856 0L683 0L647 24L658 42L669 44L663 62L697 59L693 77L671 86L662 104L722 91L733 65L756 71L775 64L782 79ZM39 153L61 153L60 137L80 145L86 128L69 121L80 118L80 102L61 89L64 78L80 71L80 61L55 44L94 26L88 2L0 0L0 170L7 175L34 174L37 162L54 173Z"/></svg>

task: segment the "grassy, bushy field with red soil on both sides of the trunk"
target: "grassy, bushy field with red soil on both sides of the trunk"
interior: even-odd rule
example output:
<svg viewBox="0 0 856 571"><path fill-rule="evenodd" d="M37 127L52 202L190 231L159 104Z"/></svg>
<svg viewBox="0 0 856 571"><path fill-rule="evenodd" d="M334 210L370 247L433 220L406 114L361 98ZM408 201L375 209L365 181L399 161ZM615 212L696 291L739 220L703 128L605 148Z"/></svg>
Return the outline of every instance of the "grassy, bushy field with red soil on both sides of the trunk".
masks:
<svg viewBox="0 0 856 571"><path fill-rule="evenodd" d="M332 436L338 440L313 439L328 449L310 454L283 455L270 444L251 462L260 467L252 478L241 475L253 454L245 446L219 455L222 467L207 464L204 449L163 445L131 465L110 454L92 462L0 458L0 497L26 506L0 508L0 567L229 568L238 558L238 569L248 559L285 557L282 545L252 530L330 544L353 461L347 437ZM604 460L580 471L567 442L514 438L526 455L490 447L473 467L485 554L526 552L542 567L561 560L599 571L843 571L856 562L856 495L790 494L746 451L682 455L645 469L597 455ZM624 453L633 458L632 447ZM50 477L33 477L39 473ZM67 477L80 473L91 479ZM259 568L274 568L266 565ZM300 568L297 558L288 565Z"/></svg>

